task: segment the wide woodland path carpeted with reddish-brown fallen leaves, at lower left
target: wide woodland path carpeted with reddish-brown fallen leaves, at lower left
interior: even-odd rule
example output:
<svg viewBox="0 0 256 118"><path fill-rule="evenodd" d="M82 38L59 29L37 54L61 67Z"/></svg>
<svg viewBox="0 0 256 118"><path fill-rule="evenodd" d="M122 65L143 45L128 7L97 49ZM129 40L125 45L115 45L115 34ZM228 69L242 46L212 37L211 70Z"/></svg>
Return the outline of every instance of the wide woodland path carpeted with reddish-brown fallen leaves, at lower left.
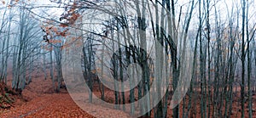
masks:
<svg viewBox="0 0 256 118"><path fill-rule="evenodd" d="M91 105L88 104L88 109ZM106 110L100 106L94 106L96 109ZM116 116L115 116L116 115ZM72 117L72 118L93 118L84 110L81 110L68 93L53 93L44 94L38 98L33 98L31 101L26 102L10 110L0 111L0 117ZM102 115L96 114L96 117L114 118L114 117L129 117L119 110L106 110L102 111Z"/></svg>

